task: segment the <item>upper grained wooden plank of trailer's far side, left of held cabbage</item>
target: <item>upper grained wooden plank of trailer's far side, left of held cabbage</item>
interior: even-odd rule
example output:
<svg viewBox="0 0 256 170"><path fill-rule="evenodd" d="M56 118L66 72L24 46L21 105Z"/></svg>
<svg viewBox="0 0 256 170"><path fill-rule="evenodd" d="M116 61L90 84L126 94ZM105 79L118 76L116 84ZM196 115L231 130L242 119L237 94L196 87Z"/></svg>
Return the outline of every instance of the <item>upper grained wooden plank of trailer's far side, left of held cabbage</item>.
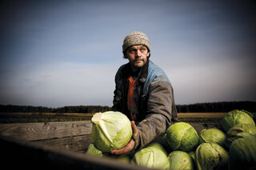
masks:
<svg viewBox="0 0 256 170"><path fill-rule="evenodd" d="M90 121L0 124L0 134L30 141L86 135L91 128Z"/></svg>

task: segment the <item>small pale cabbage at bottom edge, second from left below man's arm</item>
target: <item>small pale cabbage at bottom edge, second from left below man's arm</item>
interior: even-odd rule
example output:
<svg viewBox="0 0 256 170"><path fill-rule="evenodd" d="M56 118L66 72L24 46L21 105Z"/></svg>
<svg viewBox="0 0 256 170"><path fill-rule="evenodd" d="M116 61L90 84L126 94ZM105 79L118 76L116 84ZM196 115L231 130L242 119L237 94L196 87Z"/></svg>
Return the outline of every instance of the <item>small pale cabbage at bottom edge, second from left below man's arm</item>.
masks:
<svg viewBox="0 0 256 170"><path fill-rule="evenodd" d="M190 169L194 168L194 160L192 157L184 151L170 152L168 159L170 161L170 169Z"/></svg>

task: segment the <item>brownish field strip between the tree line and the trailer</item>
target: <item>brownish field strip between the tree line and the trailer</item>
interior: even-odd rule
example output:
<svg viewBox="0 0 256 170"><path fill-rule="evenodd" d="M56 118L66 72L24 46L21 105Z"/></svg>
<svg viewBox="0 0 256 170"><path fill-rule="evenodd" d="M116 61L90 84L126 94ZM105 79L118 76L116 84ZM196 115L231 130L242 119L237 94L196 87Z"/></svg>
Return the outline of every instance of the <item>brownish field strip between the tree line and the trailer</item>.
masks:
<svg viewBox="0 0 256 170"><path fill-rule="evenodd" d="M94 113L0 113L0 123L90 121ZM179 121L218 122L225 113L178 113Z"/></svg>

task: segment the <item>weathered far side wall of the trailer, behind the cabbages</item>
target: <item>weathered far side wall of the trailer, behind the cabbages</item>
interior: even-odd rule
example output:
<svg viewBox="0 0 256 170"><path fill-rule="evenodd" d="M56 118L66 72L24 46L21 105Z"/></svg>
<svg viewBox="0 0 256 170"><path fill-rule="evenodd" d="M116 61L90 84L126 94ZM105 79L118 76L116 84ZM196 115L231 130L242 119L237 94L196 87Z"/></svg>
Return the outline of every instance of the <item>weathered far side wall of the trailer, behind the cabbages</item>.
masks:
<svg viewBox="0 0 256 170"><path fill-rule="evenodd" d="M218 124L189 123L198 133L204 128L221 128ZM92 142L90 121L0 124L0 134L74 152L86 152Z"/></svg>

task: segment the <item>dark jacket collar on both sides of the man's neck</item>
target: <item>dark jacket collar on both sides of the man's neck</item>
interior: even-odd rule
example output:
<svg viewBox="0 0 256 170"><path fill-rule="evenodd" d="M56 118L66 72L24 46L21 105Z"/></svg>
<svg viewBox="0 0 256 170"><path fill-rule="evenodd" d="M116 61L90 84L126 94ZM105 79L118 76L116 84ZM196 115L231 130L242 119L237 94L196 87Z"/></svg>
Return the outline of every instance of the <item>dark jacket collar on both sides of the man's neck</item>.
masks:
<svg viewBox="0 0 256 170"><path fill-rule="evenodd" d="M150 59L147 58L146 64L142 67L142 69L141 69L141 71L139 73L138 81L141 81L141 82L145 82L146 81L146 77L147 77L148 70L149 70L149 63L150 63ZM122 68L122 73L123 73L124 76L128 77L131 72L132 72L131 65L130 65L130 62L128 62Z"/></svg>

